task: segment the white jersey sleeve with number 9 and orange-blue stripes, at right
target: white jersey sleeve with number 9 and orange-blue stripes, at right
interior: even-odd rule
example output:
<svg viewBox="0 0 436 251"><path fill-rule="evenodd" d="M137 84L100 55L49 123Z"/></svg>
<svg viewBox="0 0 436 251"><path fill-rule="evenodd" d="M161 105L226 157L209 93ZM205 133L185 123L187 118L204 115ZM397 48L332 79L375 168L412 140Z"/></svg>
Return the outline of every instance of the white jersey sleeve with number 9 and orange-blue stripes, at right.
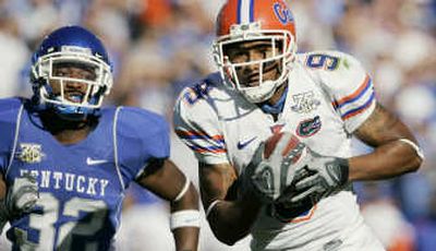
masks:
<svg viewBox="0 0 436 251"><path fill-rule="evenodd" d="M376 105L371 76L354 57L339 51L307 53L305 64L331 98L346 130L352 133L371 116Z"/></svg>

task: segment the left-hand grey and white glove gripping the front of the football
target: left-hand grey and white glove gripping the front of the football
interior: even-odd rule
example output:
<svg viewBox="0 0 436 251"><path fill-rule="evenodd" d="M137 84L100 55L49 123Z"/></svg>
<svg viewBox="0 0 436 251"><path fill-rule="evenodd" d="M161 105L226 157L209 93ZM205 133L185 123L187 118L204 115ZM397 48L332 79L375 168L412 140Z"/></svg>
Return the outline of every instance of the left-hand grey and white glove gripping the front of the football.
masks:
<svg viewBox="0 0 436 251"><path fill-rule="evenodd" d="M242 172L242 187L254 191L264 203L272 203L293 180L295 163L305 153L301 142L290 145L291 133L283 133L272 153L265 158L265 143L261 143Z"/></svg>

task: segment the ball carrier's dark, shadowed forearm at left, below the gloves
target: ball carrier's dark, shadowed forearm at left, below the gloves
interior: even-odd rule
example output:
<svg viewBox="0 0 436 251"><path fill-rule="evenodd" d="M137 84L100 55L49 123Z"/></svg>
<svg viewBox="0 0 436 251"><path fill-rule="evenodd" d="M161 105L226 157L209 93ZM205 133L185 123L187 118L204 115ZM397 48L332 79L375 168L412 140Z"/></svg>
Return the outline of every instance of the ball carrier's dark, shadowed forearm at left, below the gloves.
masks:
<svg viewBox="0 0 436 251"><path fill-rule="evenodd" d="M262 208L255 200L219 201L207 216L210 228L218 240L226 244L234 244L250 234Z"/></svg>

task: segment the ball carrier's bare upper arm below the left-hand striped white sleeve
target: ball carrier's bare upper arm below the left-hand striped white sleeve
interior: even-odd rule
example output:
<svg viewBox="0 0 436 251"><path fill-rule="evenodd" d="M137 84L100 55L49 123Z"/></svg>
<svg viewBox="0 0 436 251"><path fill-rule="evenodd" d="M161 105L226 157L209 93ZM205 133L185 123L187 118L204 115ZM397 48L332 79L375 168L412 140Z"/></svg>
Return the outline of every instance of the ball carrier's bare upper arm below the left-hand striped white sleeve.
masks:
<svg viewBox="0 0 436 251"><path fill-rule="evenodd" d="M233 196L233 184L238 179L234 168L227 163L208 165L199 163L198 168L199 189L202 201L207 207L215 200L226 200Z"/></svg>

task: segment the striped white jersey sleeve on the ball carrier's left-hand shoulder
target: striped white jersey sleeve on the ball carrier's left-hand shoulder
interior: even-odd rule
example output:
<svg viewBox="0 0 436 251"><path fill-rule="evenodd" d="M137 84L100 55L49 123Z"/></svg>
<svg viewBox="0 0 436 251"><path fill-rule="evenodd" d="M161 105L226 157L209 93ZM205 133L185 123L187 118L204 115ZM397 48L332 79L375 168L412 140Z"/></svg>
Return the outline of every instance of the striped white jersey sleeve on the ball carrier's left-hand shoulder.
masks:
<svg viewBox="0 0 436 251"><path fill-rule="evenodd" d="M181 92L173 112L174 131L199 162L229 163L223 133L208 96L213 85L206 80Z"/></svg>

